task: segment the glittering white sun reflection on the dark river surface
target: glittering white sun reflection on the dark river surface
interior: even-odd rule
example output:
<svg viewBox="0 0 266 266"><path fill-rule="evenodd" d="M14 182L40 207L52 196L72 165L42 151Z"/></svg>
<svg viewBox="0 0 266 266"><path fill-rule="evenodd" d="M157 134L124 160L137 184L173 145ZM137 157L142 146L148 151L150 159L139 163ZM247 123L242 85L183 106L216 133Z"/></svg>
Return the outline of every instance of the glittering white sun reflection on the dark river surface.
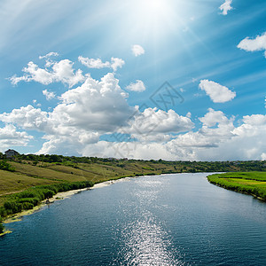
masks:
<svg viewBox="0 0 266 266"><path fill-rule="evenodd" d="M134 191L141 208L131 209L128 223L121 231L121 265L184 265L181 254L171 242L164 223L153 213L160 182L145 181ZM136 219L137 217L137 219Z"/></svg>

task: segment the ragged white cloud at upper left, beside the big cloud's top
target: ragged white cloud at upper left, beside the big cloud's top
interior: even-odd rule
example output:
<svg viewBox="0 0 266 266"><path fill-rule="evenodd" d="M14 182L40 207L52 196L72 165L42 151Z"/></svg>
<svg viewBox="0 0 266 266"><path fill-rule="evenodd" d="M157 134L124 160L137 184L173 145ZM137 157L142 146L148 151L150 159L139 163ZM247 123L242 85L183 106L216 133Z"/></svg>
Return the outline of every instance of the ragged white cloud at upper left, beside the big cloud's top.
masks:
<svg viewBox="0 0 266 266"><path fill-rule="evenodd" d="M51 62L50 62L51 63ZM19 82L40 82L43 85L51 84L52 82L63 82L68 84L71 88L78 82L84 80L82 70L78 69L74 72L74 63L68 59L60 60L59 62L51 63L49 68L41 68L34 62L29 62L26 67L22 69L25 73L22 76L13 75L10 81L13 85Z"/></svg>

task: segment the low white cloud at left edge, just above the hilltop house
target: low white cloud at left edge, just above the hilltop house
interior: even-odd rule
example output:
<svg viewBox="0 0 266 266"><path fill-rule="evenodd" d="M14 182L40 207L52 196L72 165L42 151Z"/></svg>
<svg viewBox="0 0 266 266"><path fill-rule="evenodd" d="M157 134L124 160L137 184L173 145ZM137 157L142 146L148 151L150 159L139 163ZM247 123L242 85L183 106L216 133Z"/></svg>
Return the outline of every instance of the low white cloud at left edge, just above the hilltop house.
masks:
<svg viewBox="0 0 266 266"><path fill-rule="evenodd" d="M4 128L0 128L1 152L12 146L26 146L31 139L33 137L29 136L27 132L17 131L13 125L5 125Z"/></svg>

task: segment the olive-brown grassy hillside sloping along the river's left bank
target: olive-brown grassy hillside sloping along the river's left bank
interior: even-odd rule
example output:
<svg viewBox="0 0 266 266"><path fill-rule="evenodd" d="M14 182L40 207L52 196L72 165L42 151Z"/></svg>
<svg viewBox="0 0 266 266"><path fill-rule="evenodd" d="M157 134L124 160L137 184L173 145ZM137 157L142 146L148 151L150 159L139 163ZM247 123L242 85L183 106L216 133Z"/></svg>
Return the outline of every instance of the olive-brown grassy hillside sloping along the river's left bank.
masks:
<svg viewBox="0 0 266 266"><path fill-rule="evenodd" d="M93 162L74 165L39 162L36 165L30 160L8 161L14 172L0 170L0 207L10 195L25 191L37 185L49 185L66 182L91 181L94 184L123 176L140 176L160 174L163 170L173 170L163 164L156 165L140 161L128 162Z"/></svg>

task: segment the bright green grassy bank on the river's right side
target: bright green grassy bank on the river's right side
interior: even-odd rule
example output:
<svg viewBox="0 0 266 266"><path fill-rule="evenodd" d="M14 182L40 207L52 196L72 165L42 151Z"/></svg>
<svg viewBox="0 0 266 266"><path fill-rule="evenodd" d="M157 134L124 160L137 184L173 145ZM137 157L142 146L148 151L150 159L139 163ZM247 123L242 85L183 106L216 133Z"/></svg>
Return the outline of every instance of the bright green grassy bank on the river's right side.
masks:
<svg viewBox="0 0 266 266"><path fill-rule="evenodd" d="M266 172L216 174L207 178L211 184L266 200Z"/></svg>

